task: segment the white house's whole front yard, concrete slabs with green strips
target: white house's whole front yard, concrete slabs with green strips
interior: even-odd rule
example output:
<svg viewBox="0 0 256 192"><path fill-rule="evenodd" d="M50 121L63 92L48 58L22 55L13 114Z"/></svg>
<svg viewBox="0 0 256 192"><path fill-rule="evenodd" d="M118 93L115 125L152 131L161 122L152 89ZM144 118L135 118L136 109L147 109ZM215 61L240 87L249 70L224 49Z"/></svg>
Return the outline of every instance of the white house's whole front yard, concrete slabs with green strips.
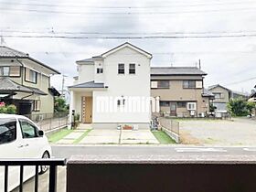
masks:
<svg viewBox="0 0 256 192"><path fill-rule="evenodd" d="M150 130L69 130L48 136L52 144L176 144L166 133Z"/></svg>

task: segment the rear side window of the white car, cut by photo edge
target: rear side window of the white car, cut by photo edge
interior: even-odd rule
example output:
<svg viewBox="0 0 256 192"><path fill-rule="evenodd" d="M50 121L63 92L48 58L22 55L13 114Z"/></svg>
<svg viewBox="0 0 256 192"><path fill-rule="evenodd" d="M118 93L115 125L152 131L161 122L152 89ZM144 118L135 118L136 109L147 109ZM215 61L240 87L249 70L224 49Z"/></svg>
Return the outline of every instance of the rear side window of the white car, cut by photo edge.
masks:
<svg viewBox="0 0 256 192"><path fill-rule="evenodd" d="M16 119L0 119L0 144L7 144L16 140Z"/></svg>

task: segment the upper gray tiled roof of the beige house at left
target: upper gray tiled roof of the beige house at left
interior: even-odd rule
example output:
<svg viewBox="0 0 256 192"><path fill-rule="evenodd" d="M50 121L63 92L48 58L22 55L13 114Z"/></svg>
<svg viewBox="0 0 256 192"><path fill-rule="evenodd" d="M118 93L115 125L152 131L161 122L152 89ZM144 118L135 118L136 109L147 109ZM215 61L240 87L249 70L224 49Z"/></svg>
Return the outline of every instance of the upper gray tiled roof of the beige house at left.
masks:
<svg viewBox="0 0 256 192"><path fill-rule="evenodd" d="M30 59L30 60L36 62L37 64L39 64L47 69L50 69L57 74L60 74L60 72L58 70L52 69L48 65L42 63L41 61L31 58L28 53L23 53L14 48L0 46L0 59L1 58L4 58L4 59Z"/></svg>

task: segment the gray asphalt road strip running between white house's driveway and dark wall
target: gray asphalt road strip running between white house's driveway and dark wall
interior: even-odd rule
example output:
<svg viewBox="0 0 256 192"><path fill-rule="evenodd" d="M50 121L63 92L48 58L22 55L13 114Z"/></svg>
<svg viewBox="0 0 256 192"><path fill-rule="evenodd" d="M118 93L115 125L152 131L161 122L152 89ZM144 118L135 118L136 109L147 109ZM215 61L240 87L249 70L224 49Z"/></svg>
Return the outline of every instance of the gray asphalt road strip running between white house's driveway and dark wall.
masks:
<svg viewBox="0 0 256 192"><path fill-rule="evenodd" d="M197 147L197 146L52 146L55 157L72 155L256 155L255 147Z"/></svg>

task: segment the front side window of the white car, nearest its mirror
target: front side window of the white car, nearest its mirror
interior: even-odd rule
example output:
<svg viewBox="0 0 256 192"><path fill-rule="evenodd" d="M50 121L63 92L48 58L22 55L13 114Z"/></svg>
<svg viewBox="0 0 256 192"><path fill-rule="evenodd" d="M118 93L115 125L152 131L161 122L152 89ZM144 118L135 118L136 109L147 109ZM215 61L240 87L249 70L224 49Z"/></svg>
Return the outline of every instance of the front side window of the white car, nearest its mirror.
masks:
<svg viewBox="0 0 256 192"><path fill-rule="evenodd" d="M35 138L38 136L37 127L27 120L19 120L23 138Z"/></svg>

